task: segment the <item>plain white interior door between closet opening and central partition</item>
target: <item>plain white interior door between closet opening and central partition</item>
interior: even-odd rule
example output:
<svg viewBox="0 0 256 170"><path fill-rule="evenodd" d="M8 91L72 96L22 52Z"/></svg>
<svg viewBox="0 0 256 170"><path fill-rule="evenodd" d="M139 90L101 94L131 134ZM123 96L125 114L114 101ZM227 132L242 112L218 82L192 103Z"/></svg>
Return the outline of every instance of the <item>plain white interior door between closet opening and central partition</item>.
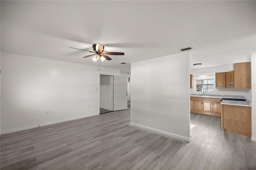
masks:
<svg viewBox="0 0 256 170"><path fill-rule="evenodd" d="M127 109L127 77L114 75L114 111Z"/></svg>

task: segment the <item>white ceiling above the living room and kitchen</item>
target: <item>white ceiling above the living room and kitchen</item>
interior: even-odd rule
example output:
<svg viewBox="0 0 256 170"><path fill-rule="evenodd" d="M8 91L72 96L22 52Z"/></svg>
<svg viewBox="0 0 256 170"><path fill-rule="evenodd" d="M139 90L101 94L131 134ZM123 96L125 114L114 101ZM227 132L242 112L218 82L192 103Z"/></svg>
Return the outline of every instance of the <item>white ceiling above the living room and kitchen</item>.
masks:
<svg viewBox="0 0 256 170"><path fill-rule="evenodd" d="M256 1L1 0L1 51L97 65L82 58L91 53L68 47L98 42L125 53L101 66L127 73L129 63L192 47L190 68L213 67L255 49L255 10Z"/></svg>

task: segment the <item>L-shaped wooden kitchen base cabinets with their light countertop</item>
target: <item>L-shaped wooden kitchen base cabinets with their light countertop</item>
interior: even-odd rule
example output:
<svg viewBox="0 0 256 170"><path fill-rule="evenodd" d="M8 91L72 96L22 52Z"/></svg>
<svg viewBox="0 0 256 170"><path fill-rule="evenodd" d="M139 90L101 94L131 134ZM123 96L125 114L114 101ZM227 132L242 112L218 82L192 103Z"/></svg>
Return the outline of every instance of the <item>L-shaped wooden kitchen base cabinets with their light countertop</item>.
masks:
<svg viewBox="0 0 256 170"><path fill-rule="evenodd" d="M225 132L252 135L251 102L244 96L191 94L190 112L221 117Z"/></svg>

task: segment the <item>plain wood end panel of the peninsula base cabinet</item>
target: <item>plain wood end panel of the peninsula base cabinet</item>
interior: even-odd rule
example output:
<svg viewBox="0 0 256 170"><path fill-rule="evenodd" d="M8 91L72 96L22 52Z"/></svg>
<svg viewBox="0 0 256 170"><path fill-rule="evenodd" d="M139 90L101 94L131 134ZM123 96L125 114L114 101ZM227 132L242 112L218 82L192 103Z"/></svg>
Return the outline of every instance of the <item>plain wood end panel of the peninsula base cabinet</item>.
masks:
<svg viewBox="0 0 256 170"><path fill-rule="evenodd" d="M251 137L251 107L223 105L222 123L226 132Z"/></svg>

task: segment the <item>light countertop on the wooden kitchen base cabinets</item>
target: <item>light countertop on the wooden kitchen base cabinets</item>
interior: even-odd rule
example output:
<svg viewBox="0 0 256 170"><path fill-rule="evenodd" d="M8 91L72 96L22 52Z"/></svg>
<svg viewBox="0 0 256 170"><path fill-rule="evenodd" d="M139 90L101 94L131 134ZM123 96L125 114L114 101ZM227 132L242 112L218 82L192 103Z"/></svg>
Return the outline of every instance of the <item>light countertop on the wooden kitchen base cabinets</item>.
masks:
<svg viewBox="0 0 256 170"><path fill-rule="evenodd" d="M232 100L223 100L220 104L222 105L235 105L235 106L248 106L251 107L251 102L244 96L236 95L197 95L190 94L190 97L208 97L208 98L228 98L228 99L245 99L246 101L232 101Z"/></svg>

